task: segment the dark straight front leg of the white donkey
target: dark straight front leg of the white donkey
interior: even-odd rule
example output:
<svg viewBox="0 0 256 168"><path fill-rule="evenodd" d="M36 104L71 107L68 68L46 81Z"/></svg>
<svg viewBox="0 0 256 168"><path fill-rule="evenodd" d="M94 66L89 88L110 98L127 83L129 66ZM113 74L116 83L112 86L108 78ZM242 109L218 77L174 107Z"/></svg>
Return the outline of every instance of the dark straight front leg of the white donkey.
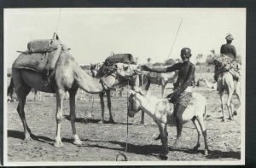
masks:
<svg viewBox="0 0 256 168"><path fill-rule="evenodd" d="M157 123L160 130L160 138L162 142L162 150L160 152L160 159L168 159L167 154L169 153L168 148L168 134L167 134L167 125L162 123Z"/></svg>

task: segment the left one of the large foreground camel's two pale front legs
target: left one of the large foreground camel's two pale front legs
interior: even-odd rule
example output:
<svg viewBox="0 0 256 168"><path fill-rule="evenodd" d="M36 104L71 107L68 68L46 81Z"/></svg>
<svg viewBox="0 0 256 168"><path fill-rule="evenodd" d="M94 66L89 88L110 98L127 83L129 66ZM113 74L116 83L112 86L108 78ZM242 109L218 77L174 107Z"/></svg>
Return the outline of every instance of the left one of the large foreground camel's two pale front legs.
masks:
<svg viewBox="0 0 256 168"><path fill-rule="evenodd" d="M66 95L65 90L59 89L56 91L56 137L55 137L55 147L61 148L63 143L61 142L61 120L63 119L62 108L63 100Z"/></svg>

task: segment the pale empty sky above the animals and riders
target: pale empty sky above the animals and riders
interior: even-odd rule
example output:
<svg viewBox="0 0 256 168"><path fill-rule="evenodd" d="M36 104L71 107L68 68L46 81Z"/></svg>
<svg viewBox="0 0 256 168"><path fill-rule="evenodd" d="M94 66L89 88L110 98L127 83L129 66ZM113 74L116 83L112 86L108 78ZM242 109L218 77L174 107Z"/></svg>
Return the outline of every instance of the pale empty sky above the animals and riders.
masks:
<svg viewBox="0 0 256 168"><path fill-rule="evenodd" d="M80 8L4 9L4 63L11 67L33 39L57 32L79 64L104 61L111 52L130 53L138 63L180 58L180 50L219 53L225 36L235 38L237 55L246 56L246 9Z"/></svg>

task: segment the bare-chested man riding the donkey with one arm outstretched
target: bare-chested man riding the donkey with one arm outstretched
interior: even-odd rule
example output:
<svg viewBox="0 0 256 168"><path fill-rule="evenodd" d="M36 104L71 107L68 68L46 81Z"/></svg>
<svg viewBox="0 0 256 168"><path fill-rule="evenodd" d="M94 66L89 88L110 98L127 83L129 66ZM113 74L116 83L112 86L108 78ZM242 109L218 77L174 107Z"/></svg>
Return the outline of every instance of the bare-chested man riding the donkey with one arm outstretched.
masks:
<svg viewBox="0 0 256 168"><path fill-rule="evenodd" d="M178 71L177 82L174 83L174 91L167 96L170 102L174 104L174 116L176 117L177 139L173 144L173 148L178 148L180 137L183 130L183 112L189 105L192 98L190 85L195 78L195 65L189 61L191 57L191 49L183 48L180 54L183 62L174 64L171 67L147 67L142 69L149 72L173 72Z"/></svg>

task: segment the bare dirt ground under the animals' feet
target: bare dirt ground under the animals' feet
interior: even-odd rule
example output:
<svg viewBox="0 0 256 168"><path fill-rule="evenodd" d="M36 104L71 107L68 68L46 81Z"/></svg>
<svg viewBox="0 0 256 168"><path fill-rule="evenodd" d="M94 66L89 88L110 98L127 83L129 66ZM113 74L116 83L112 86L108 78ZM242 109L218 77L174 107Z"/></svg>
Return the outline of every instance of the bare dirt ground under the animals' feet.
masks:
<svg viewBox="0 0 256 168"><path fill-rule="evenodd" d="M168 93L170 89L166 90ZM199 151L193 151L197 141L197 132L192 122L183 126L182 148L171 150L168 154L169 161L180 160L205 160L205 161L237 161L241 159L241 113L235 121L223 123L220 117L220 100L217 91L198 89L207 97L208 115L207 126L209 155L204 156L204 143L202 139ZM152 90L160 96L160 90ZM114 121L116 124L99 124L101 107L99 97L94 95L93 114L89 124L84 124L85 112L92 109L92 99L87 96L86 101L77 101L76 127L83 145L78 147L72 143L72 130L67 118L69 102L64 101L64 117L61 125L63 148L55 148L55 97L47 96L45 101L33 101L32 95L28 96L26 103L26 120L30 126L34 139L24 142L22 139L23 126L16 112L17 102L8 104L8 160L13 161L115 161L116 154L125 151L126 145L126 94L123 97L112 97ZM237 99L234 96L237 107ZM107 103L106 103L107 104ZM243 112L242 112L243 113ZM225 113L228 118L228 112ZM108 119L108 109L105 113ZM140 125L141 113L134 119L129 119L129 136L127 157L129 161L159 161L156 157L160 153L160 142L154 141L154 134L158 128L154 121L145 115L145 125ZM169 126L169 146L175 140L176 127Z"/></svg>

